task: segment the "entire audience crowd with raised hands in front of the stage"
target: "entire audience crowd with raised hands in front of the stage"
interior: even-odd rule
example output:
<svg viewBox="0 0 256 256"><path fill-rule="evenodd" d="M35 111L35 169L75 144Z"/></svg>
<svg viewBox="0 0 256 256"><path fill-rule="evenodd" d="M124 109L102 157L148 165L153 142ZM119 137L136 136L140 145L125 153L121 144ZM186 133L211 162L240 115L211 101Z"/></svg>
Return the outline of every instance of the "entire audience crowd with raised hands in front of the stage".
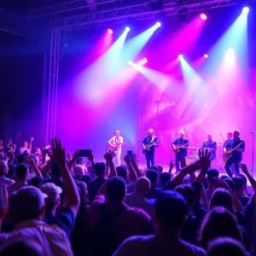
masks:
<svg viewBox="0 0 256 256"><path fill-rule="evenodd" d="M0 141L2 255L256 255L256 181L220 176L210 153L177 175L136 155L84 161L58 138L44 149Z"/></svg>

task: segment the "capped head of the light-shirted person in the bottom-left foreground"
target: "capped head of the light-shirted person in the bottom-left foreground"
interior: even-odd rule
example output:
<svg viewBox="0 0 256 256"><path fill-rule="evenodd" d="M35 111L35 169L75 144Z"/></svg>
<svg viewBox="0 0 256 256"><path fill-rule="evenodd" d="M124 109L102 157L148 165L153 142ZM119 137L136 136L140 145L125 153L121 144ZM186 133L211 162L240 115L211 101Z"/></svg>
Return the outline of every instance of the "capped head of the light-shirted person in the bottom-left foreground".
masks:
<svg viewBox="0 0 256 256"><path fill-rule="evenodd" d="M12 199L15 208L10 208L10 214L16 222L38 219L44 207L44 195L40 189L26 186L20 189ZM14 212L11 212L14 211Z"/></svg>

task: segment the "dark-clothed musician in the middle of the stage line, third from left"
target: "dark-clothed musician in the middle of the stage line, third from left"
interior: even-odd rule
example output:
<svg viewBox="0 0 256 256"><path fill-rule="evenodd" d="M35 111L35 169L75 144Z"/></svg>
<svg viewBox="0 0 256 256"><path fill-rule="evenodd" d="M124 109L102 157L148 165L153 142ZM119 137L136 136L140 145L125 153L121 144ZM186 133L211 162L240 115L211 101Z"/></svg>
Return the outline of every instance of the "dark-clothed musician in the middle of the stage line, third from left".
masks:
<svg viewBox="0 0 256 256"><path fill-rule="evenodd" d="M189 140L185 137L184 131L179 131L179 137L172 143L172 147L174 149L175 153L175 166L176 166L176 172L180 171L179 163L181 167L183 168L186 166L186 156L188 154L188 148L189 146Z"/></svg>

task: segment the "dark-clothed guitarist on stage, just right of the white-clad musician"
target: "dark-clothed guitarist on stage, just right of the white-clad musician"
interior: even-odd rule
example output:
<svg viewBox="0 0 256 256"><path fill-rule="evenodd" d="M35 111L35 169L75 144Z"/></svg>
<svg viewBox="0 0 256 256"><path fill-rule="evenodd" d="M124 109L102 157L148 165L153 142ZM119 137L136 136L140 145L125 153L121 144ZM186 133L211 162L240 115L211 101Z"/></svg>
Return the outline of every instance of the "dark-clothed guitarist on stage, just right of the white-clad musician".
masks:
<svg viewBox="0 0 256 256"><path fill-rule="evenodd" d="M148 136L144 137L142 145L143 145L143 150L146 150L148 145L153 144L152 147L150 147L149 150L147 150L145 153L147 167L148 169L150 169L150 166L154 166L155 148L158 147L159 139L154 136L153 129L149 129L147 133L148 133Z"/></svg>

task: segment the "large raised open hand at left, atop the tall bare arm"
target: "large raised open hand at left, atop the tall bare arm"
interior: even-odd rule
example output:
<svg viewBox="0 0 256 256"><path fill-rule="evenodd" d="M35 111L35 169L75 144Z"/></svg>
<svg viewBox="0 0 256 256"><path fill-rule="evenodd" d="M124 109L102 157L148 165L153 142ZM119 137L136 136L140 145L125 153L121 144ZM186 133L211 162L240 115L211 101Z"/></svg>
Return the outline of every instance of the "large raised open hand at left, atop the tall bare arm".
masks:
<svg viewBox="0 0 256 256"><path fill-rule="evenodd" d="M52 154L49 154L49 158L52 160L52 162L55 163L57 166L66 166L66 151L65 148L63 148L61 144L61 140L57 139L56 137L51 140L51 148L52 148Z"/></svg>

